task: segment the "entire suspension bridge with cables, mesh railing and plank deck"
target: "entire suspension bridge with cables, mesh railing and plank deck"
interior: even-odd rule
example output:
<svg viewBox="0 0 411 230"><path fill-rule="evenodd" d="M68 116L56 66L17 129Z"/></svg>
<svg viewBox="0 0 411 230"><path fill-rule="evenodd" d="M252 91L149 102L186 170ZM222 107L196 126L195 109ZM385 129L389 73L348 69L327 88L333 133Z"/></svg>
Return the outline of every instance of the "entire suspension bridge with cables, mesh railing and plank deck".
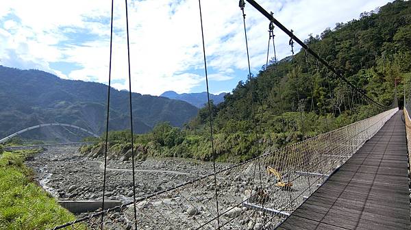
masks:
<svg viewBox="0 0 411 230"><path fill-rule="evenodd" d="M322 65L327 73L331 73L334 79L339 79L340 84L351 90L352 101L372 105L379 113L282 149L261 149L257 141L258 157L216 170L209 100L214 172L137 197L132 146L133 201L110 209L105 209L104 205L108 151L106 136L101 209L53 229L410 229L410 101L404 99L404 110L398 109L396 96L395 102L388 106L375 101L297 38L292 30L279 23L272 13L264 10L256 1L247 2L269 20L268 50L272 39L275 51L273 29L276 26L290 37L292 55L297 42L306 52L306 57L311 55L317 65ZM125 5L127 18L127 0ZM256 140L259 140L245 25L245 1L240 1L239 6L245 29L254 133ZM208 90L201 1L199 16ZM110 112L111 49L112 40L105 133L108 133ZM269 52L266 68L269 68L268 57ZM275 68L277 57L274 60ZM130 122L133 127L131 85L129 92ZM299 97L298 89L297 95ZM300 112L303 123L303 111ZM275 170L269 166L275 166ZM280 177L273 177L271 172ZM120 218L116 218L119 213L128 216L133 226L125 225ZM245 223L248 223L247 227Z"/></svg>

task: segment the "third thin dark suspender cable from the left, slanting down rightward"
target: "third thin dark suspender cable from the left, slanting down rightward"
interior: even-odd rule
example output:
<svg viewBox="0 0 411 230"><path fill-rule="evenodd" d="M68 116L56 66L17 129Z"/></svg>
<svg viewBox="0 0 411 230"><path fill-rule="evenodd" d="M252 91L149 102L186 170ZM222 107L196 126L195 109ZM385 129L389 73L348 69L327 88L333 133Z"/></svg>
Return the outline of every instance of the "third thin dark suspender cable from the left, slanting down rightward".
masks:
<svg viewBox="0 0 411 230"><path fill-rule="evenodd" d="M203 15L201 14L201 0L199 0L200 10L200 23L201 23L201 38L203 41L203 57L204 57L204 72L206 74L206 86L207 86L207 103L208 103L208 116L210 118L210 141L212 151L212 166L214 170L214 192L216 196L216 208L217 208L217 226L220 229L220 217L219 217L219 194L217 192L217 175L216 175L216 152L214 151L214 138L212 129L212 112L210 103L210 90L208 89L208 73L207 73L207 59L206 59L206 44L204 42L204 30L203 30Z"/></svg>

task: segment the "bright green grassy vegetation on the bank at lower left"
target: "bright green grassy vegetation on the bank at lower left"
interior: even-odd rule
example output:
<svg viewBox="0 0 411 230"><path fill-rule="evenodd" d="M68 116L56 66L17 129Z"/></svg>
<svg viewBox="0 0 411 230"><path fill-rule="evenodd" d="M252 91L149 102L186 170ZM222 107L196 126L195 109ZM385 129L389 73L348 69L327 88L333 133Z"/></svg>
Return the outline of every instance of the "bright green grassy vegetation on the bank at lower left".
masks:
<svg viewBox="0 0 411 230"><path fill-rule="evenodd" d="M75 216L33 181L23 162L41 150L0 155L0 229L49 229Z"/></svg>

